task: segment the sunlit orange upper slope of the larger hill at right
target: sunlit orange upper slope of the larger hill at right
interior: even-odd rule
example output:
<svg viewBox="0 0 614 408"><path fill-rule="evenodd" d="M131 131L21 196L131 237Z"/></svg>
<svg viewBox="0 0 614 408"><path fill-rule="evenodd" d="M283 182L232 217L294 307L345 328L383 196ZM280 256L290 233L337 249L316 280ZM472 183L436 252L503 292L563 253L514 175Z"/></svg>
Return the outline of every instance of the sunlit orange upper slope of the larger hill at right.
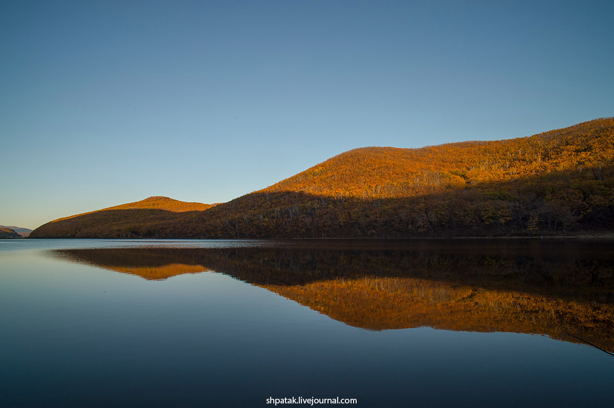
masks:
<svg viewBox="0 0 614 408"><path fill-rule="evenodd" d="M614 158L613 127L614 119L598 119L510 140L353 149L263 191L403 198L552 173L602 180Z"/></svg>

